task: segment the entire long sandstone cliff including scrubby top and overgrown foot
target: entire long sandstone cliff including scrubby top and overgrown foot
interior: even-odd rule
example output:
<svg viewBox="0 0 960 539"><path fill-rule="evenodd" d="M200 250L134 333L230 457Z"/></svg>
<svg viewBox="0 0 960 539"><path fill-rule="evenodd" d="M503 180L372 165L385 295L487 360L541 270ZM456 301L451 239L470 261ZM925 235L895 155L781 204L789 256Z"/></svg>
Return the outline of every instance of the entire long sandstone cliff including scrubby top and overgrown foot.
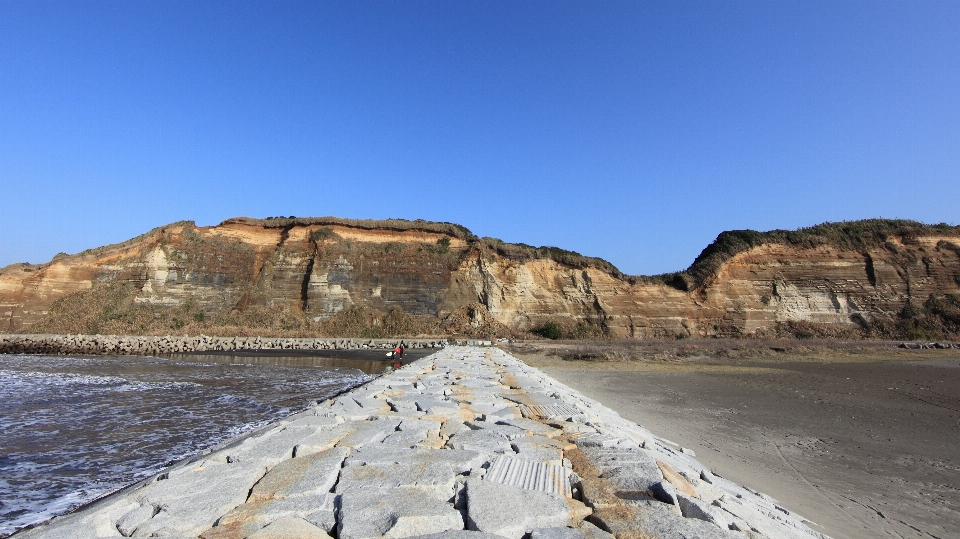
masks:
<svg viewBox="0 0 960 539"><path fill-rule="evenodd" d="M960 331L958 295L960 227L910 221L727 232L630 277L449 223L236 218L2 268L0 331L924 338Z"/></svg>

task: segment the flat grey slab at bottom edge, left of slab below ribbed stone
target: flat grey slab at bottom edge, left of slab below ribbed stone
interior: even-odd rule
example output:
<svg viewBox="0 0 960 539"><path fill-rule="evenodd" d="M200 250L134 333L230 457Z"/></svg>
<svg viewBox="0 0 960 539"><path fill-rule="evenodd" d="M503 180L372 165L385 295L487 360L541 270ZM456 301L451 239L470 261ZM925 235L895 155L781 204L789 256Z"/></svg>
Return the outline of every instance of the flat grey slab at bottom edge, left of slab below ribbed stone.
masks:
<svg viewBox="0 0 960 539"><path fill-rule="evenodd" d="M339 539L399 539L462 530L451 504L405 488L351 489L340 496Z"/></svg>

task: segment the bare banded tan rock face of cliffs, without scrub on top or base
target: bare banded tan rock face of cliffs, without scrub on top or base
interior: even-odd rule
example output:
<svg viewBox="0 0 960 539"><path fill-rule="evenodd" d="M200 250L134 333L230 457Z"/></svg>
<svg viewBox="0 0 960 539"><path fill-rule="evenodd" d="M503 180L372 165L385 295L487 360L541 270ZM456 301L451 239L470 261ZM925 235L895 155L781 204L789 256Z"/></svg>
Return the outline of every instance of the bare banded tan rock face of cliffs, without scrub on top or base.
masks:
<svg viewBox="0 0 960 539"><path fill-rule="evenodd" d="M693 286L627 277L596 259L516 256L491 245L496 240L462 227L422 221L174 223L47 264L0 269L0 331L29 332L55 301L111 284L127 286L135 305L190 305L207 316L283 307L320 321L366 307L442 320L466 310L475 326L559 321L635 338L763 335L789 322L855 329L895 320L931 295L960 294L956 227L859 249L761 242Z"/></svg>

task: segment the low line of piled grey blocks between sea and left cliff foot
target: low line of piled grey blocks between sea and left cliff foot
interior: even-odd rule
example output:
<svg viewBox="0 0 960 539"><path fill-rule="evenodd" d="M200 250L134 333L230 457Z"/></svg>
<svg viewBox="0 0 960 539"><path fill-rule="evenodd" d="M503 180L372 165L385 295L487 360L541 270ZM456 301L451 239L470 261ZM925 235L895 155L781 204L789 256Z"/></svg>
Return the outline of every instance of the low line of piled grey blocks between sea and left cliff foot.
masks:
<svg viewBox="0 0 960 539"><path fill-rule="evenodd" d="M392 349L398 339L301 339L129 335L0 335L0 354L155 355L263 350ZM441 339L403 339L408 348L439 348Z"/></svg>

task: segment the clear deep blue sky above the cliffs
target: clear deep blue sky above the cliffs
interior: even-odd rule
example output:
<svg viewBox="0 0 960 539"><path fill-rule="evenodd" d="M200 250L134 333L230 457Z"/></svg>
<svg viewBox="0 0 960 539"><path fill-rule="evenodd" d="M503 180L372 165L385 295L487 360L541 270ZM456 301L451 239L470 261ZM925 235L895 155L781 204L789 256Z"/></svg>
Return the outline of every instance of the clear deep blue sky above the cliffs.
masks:
<svg viewBox="0 0 960 539"><path fill-rule="evenodd" d="M680 270L957 224L960 2L0 0L0 266L177 220L428 219Z"/></svg>

